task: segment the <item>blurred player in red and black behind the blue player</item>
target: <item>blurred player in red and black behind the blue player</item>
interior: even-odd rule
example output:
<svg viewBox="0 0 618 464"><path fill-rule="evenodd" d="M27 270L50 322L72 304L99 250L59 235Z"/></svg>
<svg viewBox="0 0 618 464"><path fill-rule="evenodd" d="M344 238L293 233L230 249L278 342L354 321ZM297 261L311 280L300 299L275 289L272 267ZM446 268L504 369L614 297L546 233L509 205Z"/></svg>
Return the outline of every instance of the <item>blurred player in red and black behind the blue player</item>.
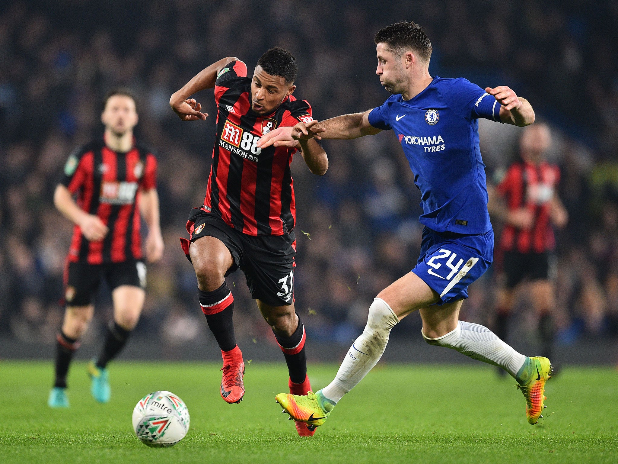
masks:
<svg viewBox="0 0 618 464"><path fill-rule="evenodd" d="M531 304L539 317L542 355L548 358L554 340L554 227L567 223L567 212L556 192L560 171L544 160L550 145L546 124L526 127L520 139L521 159L509 166L496 187L497 196L491 195L489 201L490 211L505 223L500 240L504 286L497 294L496 335L507 340L515 293L527 279Z"/></svg>

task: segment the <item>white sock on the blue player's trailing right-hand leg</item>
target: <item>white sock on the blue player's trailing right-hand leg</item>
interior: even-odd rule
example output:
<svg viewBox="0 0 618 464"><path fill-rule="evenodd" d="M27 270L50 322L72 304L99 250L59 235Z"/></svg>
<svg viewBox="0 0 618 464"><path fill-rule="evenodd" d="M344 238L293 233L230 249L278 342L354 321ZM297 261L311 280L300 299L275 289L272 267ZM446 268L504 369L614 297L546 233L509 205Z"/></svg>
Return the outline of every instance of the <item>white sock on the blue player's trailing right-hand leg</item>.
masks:
<svg viewBox="0 0 618 464"><path fill-rule="evenodd" d="M423 331L421 330L421 333ZM452 332L438 338L423 338L430 345L445 346L459 351L459 353L478 359L483 363L500 366L513 377L517 375L523 366L526 357L517 353L506 343L502 342L497 335L487 327L472 322L459 321Z"/></svg>

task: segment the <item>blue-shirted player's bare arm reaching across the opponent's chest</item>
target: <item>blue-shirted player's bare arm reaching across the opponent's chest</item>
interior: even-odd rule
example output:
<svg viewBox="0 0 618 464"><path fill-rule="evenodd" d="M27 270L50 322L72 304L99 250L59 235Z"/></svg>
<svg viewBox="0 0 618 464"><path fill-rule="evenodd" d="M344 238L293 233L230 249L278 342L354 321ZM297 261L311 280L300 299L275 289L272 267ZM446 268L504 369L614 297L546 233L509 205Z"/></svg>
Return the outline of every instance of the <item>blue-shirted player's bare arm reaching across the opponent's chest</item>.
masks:
<svg viewBox="0 0 618 464"><path fill-rule="evenodd" d="M325 121L298 122L294 127L279 127L268 132L258 142L258 147L295 147L297 140L309 139L357 139L363 135L373 135L381 129L369 124L369 113L342 114Z"/></svg>

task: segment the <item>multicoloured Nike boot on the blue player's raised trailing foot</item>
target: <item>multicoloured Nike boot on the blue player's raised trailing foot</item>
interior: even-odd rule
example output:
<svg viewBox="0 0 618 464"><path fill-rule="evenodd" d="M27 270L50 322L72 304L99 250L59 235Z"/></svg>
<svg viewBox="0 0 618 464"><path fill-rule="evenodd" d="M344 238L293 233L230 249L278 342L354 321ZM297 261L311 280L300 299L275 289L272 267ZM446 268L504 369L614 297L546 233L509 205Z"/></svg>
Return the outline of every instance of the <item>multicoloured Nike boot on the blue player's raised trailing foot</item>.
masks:
<svg viewBox="0 0 618 464"><path fill-rule="evenodd" d="M520 372L517 372L517 389L522 390L526 398L526 417L529 424L536 424L543 417L541 413L547 406L544 400L545 382L551 378L553 369L549 359L542 356L527 358ZM523 378L520 381L520 378Z"/></svg>

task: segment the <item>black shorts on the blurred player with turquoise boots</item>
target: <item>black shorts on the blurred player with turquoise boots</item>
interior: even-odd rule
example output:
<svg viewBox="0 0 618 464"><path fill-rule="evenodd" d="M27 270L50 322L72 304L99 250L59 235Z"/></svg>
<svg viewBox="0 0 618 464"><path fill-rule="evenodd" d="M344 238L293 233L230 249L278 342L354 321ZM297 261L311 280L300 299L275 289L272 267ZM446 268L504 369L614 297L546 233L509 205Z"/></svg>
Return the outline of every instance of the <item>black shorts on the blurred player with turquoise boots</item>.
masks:
<svg viewBox="0 0 618 464"><path fill-rule="evenodd" d="M109 290L121 285L146 288L146 265L140 260L109 264L69 262L65 276L64 301L67 306L87 306L92 303L101 279Z"/></svg>

